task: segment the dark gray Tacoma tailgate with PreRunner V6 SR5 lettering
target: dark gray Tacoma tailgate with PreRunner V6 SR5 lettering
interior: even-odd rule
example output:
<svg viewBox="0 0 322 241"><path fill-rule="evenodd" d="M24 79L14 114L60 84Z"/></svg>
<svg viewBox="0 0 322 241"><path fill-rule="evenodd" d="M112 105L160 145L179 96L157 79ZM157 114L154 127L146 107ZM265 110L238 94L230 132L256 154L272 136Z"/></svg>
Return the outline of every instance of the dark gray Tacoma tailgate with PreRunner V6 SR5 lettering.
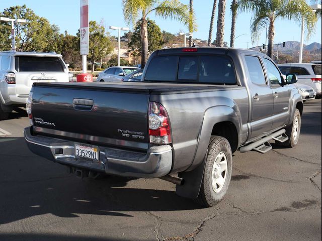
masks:
<svg viewBox="0 0 322 241"><path fill-rule="evenodd" d="M35 84L34 132L144 151L148 102L147 89Z"/></svg>

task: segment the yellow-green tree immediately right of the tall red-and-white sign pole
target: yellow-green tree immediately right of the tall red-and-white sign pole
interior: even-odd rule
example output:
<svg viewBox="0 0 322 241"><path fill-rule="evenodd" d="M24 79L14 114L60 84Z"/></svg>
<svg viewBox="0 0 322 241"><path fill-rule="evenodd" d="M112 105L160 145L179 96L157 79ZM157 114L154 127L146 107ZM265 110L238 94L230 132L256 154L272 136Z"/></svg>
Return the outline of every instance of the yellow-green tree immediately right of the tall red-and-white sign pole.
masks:
<svg viewBox="0 0 322 241"><path fill-rule="evenodd" d="M90 41L88 59L92 63L93 73L95 62L111 53L113 48L109 37L105 35L105 28L103 26L100 26L96 21L90 21L89 29ZM77 36L79 37L79 31Z"/></svg>

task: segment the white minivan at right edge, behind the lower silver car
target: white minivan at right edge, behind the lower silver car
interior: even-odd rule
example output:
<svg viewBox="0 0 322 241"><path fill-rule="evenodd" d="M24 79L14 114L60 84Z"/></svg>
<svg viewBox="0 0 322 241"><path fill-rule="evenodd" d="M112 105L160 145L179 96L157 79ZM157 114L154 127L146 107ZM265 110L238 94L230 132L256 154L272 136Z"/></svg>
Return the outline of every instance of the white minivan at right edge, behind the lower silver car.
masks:
<svg viewBox="0 0 322 241"><path fill-rule="evenodd" d="M321 96L321 65L320 64L279 64L282 74L296 74L299 84L311 86L316 96Z"/></svg>

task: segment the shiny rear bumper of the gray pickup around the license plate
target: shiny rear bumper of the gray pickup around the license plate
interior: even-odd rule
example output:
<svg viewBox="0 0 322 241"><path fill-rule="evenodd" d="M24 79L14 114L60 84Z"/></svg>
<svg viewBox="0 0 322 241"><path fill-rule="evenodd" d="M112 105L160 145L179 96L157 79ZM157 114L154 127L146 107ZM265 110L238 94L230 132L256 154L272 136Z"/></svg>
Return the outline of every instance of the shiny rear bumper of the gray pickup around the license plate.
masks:
<svg viewBox="0 0 322 241"><path fill-rule="evenodd" d="M30 127L24 136L28 148L53 162L81 169L125 177L157 178L166 176L172 167L172 148L169 145L150 147L146 154L99 146L100 161L77 158L74 142L45 136L32 136ZM63 154L55 154L55 149Z"/></svg>

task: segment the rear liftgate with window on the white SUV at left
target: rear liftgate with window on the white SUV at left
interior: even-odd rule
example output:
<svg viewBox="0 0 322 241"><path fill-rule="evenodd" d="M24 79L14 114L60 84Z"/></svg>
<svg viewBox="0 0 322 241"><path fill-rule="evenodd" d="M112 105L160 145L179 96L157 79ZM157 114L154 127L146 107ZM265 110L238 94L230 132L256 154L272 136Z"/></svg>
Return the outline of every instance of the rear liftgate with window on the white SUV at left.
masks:
<svg viewBox="0 0 322 241"><path fill-rule="evenodd" d="M68 82L66 67L59 57L15 56L16 94L28 97L37 82Z"/></svg>

